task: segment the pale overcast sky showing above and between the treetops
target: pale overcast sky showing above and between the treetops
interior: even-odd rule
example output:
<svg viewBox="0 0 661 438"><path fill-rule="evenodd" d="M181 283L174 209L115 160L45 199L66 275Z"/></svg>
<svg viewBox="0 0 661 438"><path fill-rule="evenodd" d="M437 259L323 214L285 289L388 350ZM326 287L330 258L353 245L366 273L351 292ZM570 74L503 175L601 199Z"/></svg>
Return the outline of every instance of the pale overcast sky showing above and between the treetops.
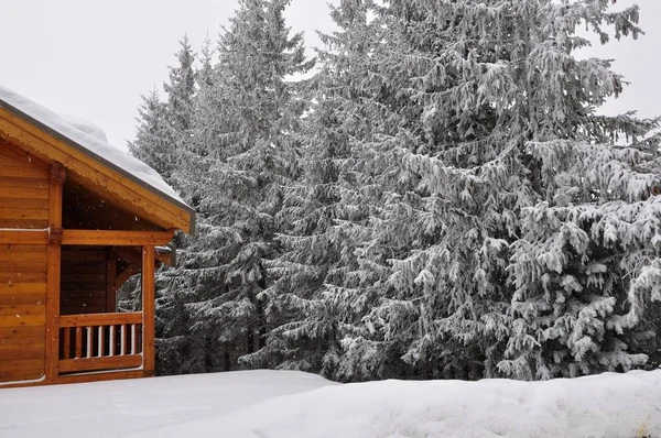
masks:
<svg viewBox="0 0 661 438"><path fill-rule="evenodd" d="M616 72L631 81L606 112L653 117L661 114L661 0L636 3L647 35L590 55L616 58ZM134 135L140 95L161 87L175 64L177 41L186 33L198 50L207 35L216 40L235 8L235 0L1 0L0 85L87 119L123 145ZM288 19L308 45L318 43L315 29L333 29L326 0L293 0Z"/></svg>

